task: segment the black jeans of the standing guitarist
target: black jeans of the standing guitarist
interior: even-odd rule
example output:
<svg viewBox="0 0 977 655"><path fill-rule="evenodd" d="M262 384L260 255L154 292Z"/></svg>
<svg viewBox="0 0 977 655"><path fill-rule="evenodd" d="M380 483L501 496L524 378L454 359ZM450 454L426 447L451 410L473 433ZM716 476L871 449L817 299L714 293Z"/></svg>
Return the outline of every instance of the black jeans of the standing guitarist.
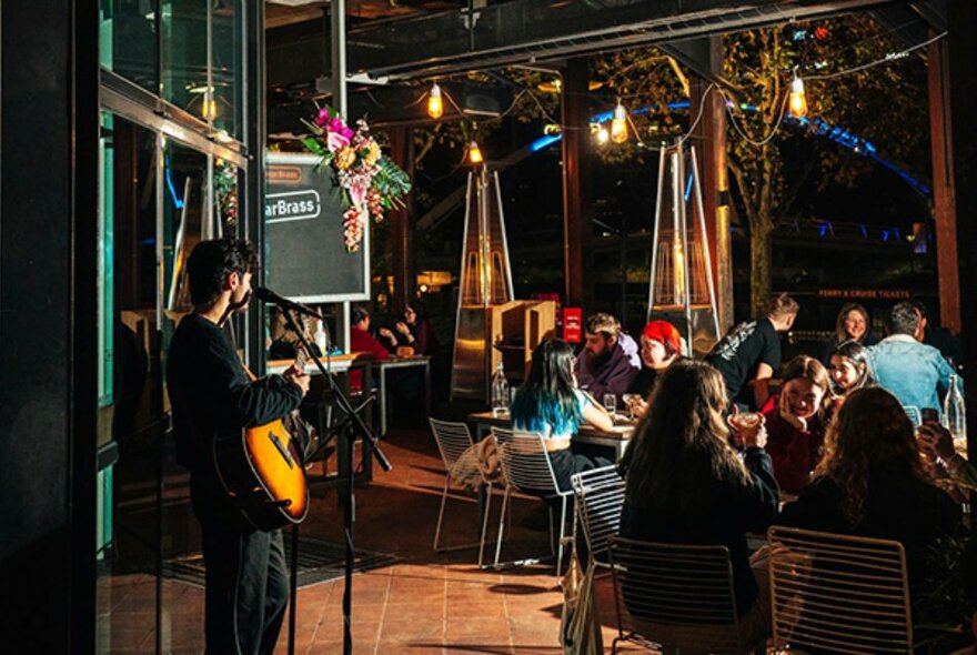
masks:
<svg viewBox="0 0 977 655"><path fill-rule="evenodd" d="M194 495L207 567L207 653L271 654L289 604L282 531L240 530L236 517L215 513L212 503Z"/></svg>

